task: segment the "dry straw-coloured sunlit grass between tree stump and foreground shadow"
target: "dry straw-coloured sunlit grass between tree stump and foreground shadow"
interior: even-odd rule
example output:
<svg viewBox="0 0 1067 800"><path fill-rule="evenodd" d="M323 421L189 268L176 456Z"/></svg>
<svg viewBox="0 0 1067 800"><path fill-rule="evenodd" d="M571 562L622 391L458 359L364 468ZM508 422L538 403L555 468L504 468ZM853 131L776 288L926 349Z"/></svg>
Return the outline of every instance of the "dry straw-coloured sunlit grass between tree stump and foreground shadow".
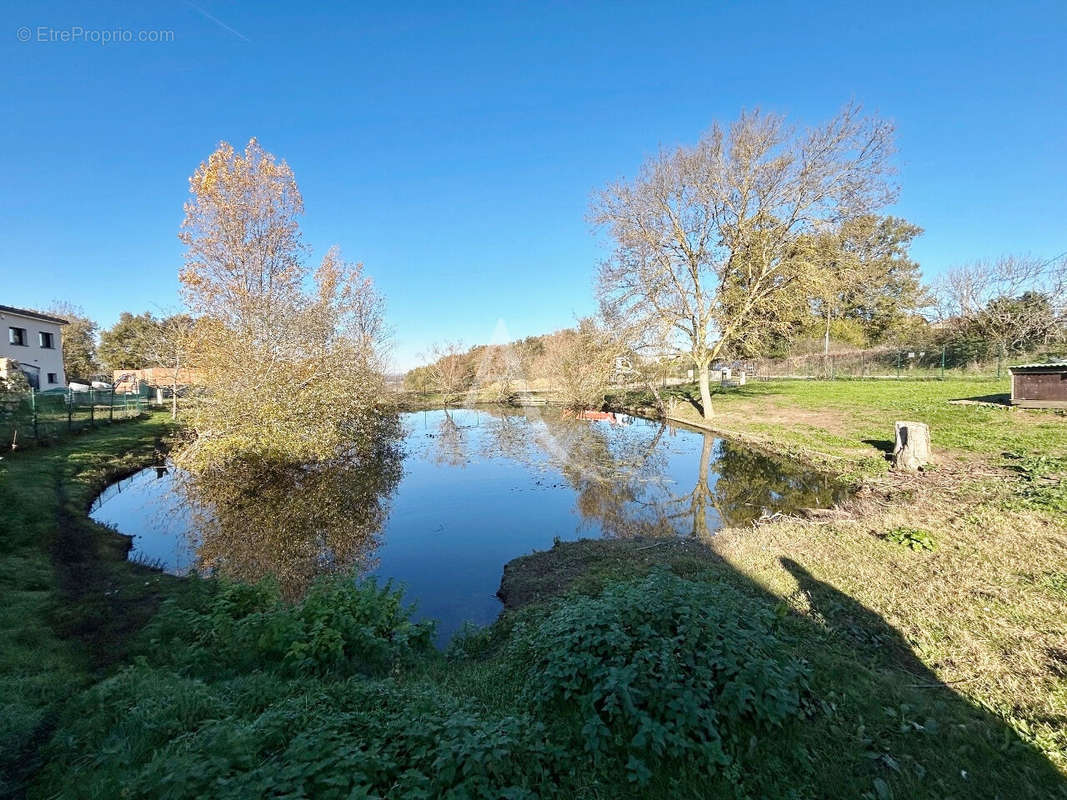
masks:
<svg viewBox="0 0 1067 800"><path fill-rule="evenodd" d="M1009 509L1006 478L975 481L959 466L930 479L887 478L817 519L726 530L712 547L801 613L782 562L882 617L944 684L1009 722L1067 771L1067 524ZM886 538L929 532L933 550Z"/></svg>

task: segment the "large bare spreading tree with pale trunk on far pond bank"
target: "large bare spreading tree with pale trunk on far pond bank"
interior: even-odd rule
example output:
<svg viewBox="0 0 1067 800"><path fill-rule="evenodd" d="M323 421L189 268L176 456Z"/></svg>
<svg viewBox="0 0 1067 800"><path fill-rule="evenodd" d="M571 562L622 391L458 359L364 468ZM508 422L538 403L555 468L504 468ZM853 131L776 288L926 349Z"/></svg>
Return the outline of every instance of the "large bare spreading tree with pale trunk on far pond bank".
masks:
<svg viewBox="0 0 1067 800"><path fill-rule="evenodd" d="M811 297L813 235L894 196L892 133L853 105L802 132L781 116L743 113L594 198L590 220L616 245L600 270L602 307L685 343L705 418L712 362L753 347L792 319L783 303Z"/></svg>

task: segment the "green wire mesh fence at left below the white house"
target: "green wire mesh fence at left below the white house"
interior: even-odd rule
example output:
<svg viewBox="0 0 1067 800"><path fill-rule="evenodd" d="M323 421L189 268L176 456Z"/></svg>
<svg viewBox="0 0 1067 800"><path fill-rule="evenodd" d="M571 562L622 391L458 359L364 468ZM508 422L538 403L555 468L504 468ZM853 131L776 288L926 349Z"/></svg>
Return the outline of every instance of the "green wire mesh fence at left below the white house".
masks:
<svg viewBox="0 0 1067 800"><path fill-rule="evenodd" d="M129 419L144 413L142 395L89 391L31 391L0 401L0 450L60 438L75 431Z"/></svg>

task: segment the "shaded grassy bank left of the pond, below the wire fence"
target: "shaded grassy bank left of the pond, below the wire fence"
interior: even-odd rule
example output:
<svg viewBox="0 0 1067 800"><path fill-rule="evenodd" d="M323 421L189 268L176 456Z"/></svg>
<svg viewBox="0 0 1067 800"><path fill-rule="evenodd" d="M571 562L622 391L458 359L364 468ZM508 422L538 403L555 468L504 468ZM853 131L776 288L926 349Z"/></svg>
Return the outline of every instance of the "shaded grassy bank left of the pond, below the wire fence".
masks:
<svg viewBox="0 0 1067 800"><path fill-rule="evenodd" d="M86 516L111 481L157 458L165 414L115 421L0 460L0 796L18 795L66 698L121 661L178 581L126 561Z"/></svg>

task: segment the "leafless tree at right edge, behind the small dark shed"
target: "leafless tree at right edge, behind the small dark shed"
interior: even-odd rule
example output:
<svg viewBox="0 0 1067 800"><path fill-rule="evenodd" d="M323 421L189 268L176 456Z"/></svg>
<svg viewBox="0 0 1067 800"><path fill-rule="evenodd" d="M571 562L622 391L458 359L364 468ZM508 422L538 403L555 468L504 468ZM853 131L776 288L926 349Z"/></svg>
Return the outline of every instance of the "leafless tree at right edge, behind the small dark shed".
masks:
<svg viewBox="0 0 1067 800"><path fill-rule="evenodd" d="M1001 353L1048 343L1067 324L1067 258L1002 256L956 267L937 295L943 322L994 342Z"/></svg>

